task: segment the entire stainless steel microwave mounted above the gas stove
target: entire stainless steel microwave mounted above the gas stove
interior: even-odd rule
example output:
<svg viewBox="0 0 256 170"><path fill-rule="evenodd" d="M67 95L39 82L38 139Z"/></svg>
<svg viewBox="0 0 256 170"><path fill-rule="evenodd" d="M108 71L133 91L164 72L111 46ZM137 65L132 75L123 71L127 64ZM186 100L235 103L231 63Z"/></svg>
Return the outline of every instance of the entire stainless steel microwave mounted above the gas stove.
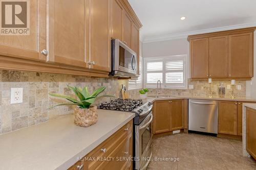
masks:
<svg viewBox="0 0 256 170"><path fill-rule="evenodd" d="M111 76L135 77L137 54L119 39L111 40Z"/></svg>

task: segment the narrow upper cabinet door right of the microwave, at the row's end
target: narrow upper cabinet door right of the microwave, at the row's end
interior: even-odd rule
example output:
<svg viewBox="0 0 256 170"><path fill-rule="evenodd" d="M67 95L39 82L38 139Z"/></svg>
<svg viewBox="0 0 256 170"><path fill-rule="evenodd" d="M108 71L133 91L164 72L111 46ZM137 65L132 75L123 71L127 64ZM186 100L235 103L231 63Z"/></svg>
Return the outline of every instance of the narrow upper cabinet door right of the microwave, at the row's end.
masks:
<svg viewBox="0 0 256 170"><path fill-rule="evenodd" d="M139 52L139 45L140 45L140 37L139 37L139 28L133 23L132 27L132 49L137 54L137 71L139 74L139 59L140 59L140 52Z"/></svg>

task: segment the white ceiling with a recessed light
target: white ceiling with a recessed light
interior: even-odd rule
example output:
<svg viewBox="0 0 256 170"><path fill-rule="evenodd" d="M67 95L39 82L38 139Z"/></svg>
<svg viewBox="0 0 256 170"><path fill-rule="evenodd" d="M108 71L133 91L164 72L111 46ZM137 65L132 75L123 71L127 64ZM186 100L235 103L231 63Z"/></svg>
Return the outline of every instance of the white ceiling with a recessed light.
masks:
<svg viewBox="0 0 256 170"><path fill-rule="evenodd" d="M250 23L249 26L256 26L255 0L129 0L129 2L142 22L144 39L234 25L246 27L247 23ZM185 16L186 19L180 20L181 16Z"/></svg>

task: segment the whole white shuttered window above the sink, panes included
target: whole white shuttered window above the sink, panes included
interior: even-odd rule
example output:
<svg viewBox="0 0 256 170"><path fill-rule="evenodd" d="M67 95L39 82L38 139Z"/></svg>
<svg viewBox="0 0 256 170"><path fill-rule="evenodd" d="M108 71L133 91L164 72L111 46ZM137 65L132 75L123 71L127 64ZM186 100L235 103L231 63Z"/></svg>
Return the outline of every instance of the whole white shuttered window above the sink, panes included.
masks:
<svg viewBox="0 0 256 170"><path fill-rule="evenodd" d="M144 86L156 88L187 88L187 55L144 58Z"/></svg>

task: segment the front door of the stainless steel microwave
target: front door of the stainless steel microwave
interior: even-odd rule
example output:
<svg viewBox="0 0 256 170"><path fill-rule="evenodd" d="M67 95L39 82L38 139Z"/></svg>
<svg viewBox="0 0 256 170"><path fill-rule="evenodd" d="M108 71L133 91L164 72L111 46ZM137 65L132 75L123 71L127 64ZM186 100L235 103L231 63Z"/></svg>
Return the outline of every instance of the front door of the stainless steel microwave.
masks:
<svg viewBox="0 0 256 170"><path fill-rule="evenodd" d="M115 39L114 70L137 74L137 54L119 39ZM113 50L113 49L112 49Z"/></svg>

